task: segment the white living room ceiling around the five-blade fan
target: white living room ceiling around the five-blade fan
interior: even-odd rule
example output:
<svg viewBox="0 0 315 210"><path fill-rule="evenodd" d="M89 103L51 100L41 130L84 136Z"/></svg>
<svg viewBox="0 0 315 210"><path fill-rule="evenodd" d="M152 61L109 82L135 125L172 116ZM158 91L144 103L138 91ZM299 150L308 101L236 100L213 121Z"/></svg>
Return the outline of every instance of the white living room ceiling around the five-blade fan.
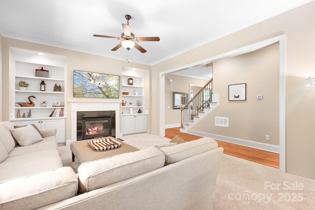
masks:
<svg viewBox="0 0 315 210"><path fill-rule="evenodd" d="M138 42L129 60L155 64L211 40L246 28L312 0L0 0L0 33L21 39L126 60L126 50L111 51L130 14L137 37L159 36L159 42Z"/></svg>

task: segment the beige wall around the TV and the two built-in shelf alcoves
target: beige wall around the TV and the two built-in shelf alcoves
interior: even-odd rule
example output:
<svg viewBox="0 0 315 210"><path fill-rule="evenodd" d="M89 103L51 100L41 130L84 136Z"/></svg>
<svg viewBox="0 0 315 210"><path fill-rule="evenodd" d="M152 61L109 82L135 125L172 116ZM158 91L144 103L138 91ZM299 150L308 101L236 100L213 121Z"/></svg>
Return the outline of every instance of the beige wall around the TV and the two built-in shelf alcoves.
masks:
<svg viewBox="0 0 315 210"><path fill-rule="evenodd" d="M8 90L9 87L9 47L17 47L34 51L41 51L44 53L57 54L67 57L67 101L122 101L121 94L119 99L101 99L101 98L73 98L73 70L94 71L99 73L108 73L115 75L122 75L122 69L124 67L137 68L147 70L147 80L145 81L145 87L149 87L149 70L150 66L126 62L126 60L110 59L101 56L95 56L87 53L76 52L72 50L66 50L57 47L51 47L41 44L34 44L26 41L20 41L10 38L2 38L2 88ZM150 91L146 91L148 96ZM1 98L10 98L8 91L3 91ZM149 110L149 97L145 101L145 109ZM9 100L2 101L2 120L9 120ZM70 105L67 105L67 122L66 122L66 139L70 139ZM150 112L150 111L149 111Z"/></svg>

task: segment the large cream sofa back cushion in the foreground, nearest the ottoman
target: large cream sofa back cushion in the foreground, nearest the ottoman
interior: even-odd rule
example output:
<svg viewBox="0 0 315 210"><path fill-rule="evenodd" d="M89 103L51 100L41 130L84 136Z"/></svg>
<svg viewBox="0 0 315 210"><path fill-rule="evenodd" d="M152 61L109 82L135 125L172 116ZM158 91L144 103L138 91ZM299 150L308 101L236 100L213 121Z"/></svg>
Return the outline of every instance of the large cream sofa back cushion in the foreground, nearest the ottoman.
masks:
<svg viewBox="0 0 315 210"><path fill-rule="evenodd" d="M78 192L89 192L163 167L164 159L161 151L151 147L84 162L78 168Z"/></svg>

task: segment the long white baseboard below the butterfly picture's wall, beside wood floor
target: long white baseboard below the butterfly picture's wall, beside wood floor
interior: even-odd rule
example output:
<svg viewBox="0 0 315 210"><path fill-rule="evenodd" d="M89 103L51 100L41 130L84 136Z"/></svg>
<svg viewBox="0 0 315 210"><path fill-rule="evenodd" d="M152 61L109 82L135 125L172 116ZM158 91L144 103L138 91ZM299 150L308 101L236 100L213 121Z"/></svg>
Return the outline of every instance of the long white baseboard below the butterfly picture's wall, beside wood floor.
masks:
<svg viewBox="0 0 315 210"><path fill-rule="evenodd" d="M280 147L277 145L270 145L266 143L261 143L261 142L253 142L245 139L237 139L237 138L232 138L232 137L227 137L227 136L221 136L221 135L216 135L216 134L211 134L211 133L205 133L205 132L200 132L200 131L195 131L195 130L189 130L189 134L197 135L197 136L203 136L203 137L209 137L213 139L220 140L222 142L228 142L228 143L233 143L237 145L242 145L246 147L251 147L259 150L266 150L266 151L272 151L276 153L280 153Z"/></svg>

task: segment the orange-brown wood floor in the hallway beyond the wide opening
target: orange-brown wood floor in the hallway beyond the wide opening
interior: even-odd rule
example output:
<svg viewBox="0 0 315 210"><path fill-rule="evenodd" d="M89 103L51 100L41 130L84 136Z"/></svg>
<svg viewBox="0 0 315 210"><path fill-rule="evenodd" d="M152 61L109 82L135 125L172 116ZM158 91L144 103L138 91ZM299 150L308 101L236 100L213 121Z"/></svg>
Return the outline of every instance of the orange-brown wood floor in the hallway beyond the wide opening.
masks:
<svg viewBox="0 0 315 210"><path fill-rule="evenodd" d="M175 135L178 135L182 139L186 141L192 141L196 139L202 138L201 136L195 136L187 133L181 133L180 128L167 128L165 129L165 137L172 139ZM222 142L216 140L218 142L218 146L224 149L223 153L232 155L235 157L243 158L246 160L250 160L256 163L264 164L267 166L271 166L274 168L279 168L279 153L258 150L250 147L240 146L236 144L231 144L227 142Z"/></svg>

